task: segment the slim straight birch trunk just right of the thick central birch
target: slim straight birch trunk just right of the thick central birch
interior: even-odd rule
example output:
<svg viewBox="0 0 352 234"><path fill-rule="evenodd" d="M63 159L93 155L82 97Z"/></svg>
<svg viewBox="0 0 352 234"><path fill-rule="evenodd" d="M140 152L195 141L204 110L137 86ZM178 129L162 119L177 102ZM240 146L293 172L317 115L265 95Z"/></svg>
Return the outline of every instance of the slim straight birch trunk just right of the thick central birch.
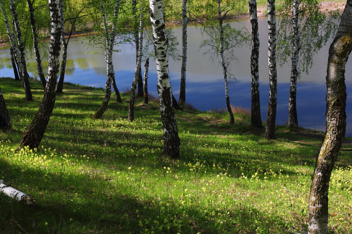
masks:
<svg viewBox="0 0 352 234"><path fill-rule="evenodd" d="M187 0L182 0L182 66L181 86L178 104L186 102L186 65L187 65Z"/></svg>

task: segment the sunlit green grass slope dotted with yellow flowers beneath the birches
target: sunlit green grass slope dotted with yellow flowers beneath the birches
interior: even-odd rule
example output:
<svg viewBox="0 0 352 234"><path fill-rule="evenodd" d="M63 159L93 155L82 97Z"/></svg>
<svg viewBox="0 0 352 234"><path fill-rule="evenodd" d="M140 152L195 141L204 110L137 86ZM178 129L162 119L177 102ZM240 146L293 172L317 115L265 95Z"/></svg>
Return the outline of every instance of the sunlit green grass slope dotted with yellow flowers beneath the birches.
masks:
<svg viewBox="0 0 352 234"><path fill-rule="evenodd" d="M162 158L159 107L111 99L90 117L103 90L65 83L40 147L18 148L34 102L1 78L14 129L0 132L0 179L32 195L26 206L0 194L0 233L289 233L307 228L309 186L323 134L277 126L277 140L226 113L176 111L181 159ZM351 233L352 146L345 143L329 191L329 233Z"/></svg>

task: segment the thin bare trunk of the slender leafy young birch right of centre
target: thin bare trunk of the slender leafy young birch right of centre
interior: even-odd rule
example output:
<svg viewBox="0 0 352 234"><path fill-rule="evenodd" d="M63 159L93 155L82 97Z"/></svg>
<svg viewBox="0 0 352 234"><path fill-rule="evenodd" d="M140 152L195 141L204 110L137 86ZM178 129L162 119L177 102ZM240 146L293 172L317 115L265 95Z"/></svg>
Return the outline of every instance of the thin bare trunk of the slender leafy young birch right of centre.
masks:
<svg viewBox="0 0 352 234"><path fill-rule="evenodd" d="M231 110L230 104L230 96L228 95L228 80L227 80L227 67L224 60L224 31L222 29L222 17L221 17L221 8L220 8L221 0L218 0L218 17L219 17L219 26L220 26L220 56L221 56L221 66L222 71L224 73L224 81L225 81L225 96L226 96L226 108L228 115L230 116L230 123L234 124L235 120L233 118L233 113Z"/></svg>

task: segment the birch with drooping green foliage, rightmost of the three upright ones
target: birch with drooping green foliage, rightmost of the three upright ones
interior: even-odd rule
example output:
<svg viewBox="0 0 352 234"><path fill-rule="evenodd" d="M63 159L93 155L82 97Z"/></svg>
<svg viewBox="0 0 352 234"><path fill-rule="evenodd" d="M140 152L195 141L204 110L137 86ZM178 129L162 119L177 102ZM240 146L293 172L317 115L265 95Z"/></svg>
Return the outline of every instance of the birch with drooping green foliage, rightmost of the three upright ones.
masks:
<svg viewBox="0 0 352 234"><path fill-rule="evenodd" d="M278 62L282 66L291 57L289 122L298 127L296 93L301 72L309 74L313 55L326 45L337 25L338 11L321 12L316 0L286 0L278 20Z"/></svg>

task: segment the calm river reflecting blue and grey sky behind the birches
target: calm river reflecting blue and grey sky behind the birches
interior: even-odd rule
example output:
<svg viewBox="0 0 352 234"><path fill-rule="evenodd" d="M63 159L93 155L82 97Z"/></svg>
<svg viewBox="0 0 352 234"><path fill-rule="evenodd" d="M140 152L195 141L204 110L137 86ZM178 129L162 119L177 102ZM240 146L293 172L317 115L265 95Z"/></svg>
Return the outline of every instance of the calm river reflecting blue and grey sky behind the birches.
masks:
<svg viewBox="0 0 352 234"><path fill-rule="evenodd" d="M259 82L260 82L260 104L262 119L266 120L266 111L269 100L269 71L268 71L268 25L267 18L262 17L259 23ZM249 19L232 22L232 27L246 27L250 32ZM174 34L180 44L182 42L182 27L173 26ZM205 49L199 50L203 39L200 27L188 26L188 58L186 75L186 101L191 103L201 111L208 111L211 108L224 108L225 85L222 76L222 68L216 61L212 63L208 56L203 56ZM101 52L97 49L86 48L81 37L71 38L68 45L68 59L65 73L65 82L78 83L94 87L104 87L106 82L106 64L102 54L89 54ZM330 39L317 55L314 56L314 65L309 70L309 75L302 73L297 83L297 113L298 124L301 127L325 131L325 111L326 111L326 68L328 59L328 48ZM126 87L131 87L136 66L136 52L130 45L120 45L119 53L114 53L113 62L116 75L117 86L120 91ZM181 52L181 45L178 46ZM0 71L1 76L14 77L10 50L3 48L0 50ZM230 102L234 106L244 108L251 107L251 71L250 55L251 48L242 47L236 49L238 59L233 61L231 73L237 78L230 87ZM352 136L352 115L351 87L352 87L352 59L346 64L346 85L347 85L347 128L346 136ZM289 60L290 61L290 60ZM31 76L38 77L34 57L27 59ZM47 62L43 62L47 65ZM142 65L143 66L143 65ZM175 97L180 92L181 61L170 59L170 78L172 91ZM143 67L144 69L144 67ZM142 69L142 73L143 73ZM276 124L284 125L288 122L288 95L290 82L290 62L283 67L277 67L277 116ZM149 92L156 93L156 65L150 61L149 70ZM127 113L126 113L127 116Z"/></svg>

